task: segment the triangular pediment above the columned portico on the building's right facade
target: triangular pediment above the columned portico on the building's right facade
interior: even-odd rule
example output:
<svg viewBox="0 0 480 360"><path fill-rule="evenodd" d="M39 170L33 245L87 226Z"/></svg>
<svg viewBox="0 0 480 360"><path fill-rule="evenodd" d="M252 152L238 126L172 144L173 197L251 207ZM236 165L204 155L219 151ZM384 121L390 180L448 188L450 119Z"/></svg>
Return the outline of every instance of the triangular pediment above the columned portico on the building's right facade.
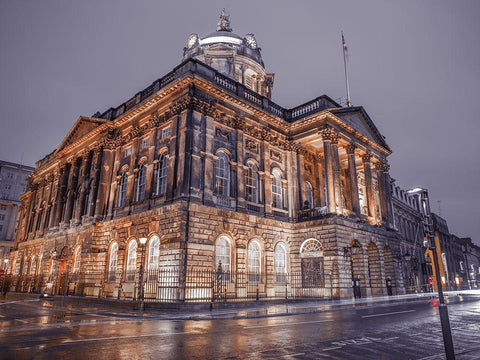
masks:
<svg viewBox="0 0 480 360"><path fill-rule="evenodd" d="M339 117L346 125L354 128L370 140L391 151L390 147L385 141L385 138L382 136L380 131L378 131L377 127L363 107L358 106L336 109L332 110L331 113Z"/></svg>

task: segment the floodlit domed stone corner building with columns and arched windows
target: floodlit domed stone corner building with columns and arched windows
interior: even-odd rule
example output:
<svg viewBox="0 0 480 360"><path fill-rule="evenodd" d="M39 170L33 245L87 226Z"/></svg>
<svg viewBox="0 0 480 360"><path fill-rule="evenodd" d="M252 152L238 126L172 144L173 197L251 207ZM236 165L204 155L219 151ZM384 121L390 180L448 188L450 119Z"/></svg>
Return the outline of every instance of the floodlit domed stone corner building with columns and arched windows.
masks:
<svg viewBox="0 0 480 360"><path fill-rule="evenodd" d="M159 301L403 293L384 137L325 95L277 105L273 80L222 13L170 73L80 117L22 196L12 286Z"/></svg>

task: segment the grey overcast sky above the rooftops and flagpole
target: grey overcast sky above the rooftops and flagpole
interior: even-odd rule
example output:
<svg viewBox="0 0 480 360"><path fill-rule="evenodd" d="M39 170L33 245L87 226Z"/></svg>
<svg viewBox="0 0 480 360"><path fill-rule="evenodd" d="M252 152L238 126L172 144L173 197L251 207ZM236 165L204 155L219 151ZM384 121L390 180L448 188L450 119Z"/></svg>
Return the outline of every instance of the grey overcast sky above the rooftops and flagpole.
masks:
<svg viewBox="0 0 480 360"><path fill-rule="evenodd" d="M181 62L222 7L254 33L273 99L345 96L393 149L391 176L429 189L450 231L480 240L480 1L0 1L0 159L33 165L80 115L129 99Z"/></svg>

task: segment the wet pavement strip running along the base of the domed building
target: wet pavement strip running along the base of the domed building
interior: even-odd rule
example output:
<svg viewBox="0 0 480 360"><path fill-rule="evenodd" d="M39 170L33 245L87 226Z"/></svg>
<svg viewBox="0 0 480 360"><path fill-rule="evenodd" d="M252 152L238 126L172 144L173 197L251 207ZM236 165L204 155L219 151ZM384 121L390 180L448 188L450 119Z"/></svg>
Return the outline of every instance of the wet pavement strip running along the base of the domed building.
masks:
<svg viewBox="0 0 480 360"><path fill-rule="evenodd" d="M446 303L480 299L480 289L444 292ZM105 300L88 297L54 296L39 299L38 294L8 293L0 296L0 307L6 304L41 301L43 307L57 311L76 311L118 318L158 320L214 320L251 319L299 314L312 314L341 309L362 309L371 306L389 306L404 303L431 303L438 305L437 293L414 293L394 296L341 300L248 301L213 304L162 304L125 300Z"/></svg>

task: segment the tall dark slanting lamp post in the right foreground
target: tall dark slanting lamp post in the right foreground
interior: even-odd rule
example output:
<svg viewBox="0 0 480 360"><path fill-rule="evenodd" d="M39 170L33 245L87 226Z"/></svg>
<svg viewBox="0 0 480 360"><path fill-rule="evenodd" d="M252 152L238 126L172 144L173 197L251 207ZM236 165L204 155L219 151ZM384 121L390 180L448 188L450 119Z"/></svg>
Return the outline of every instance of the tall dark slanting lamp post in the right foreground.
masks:
<svg viewBox="0 0 480 360"><path fill-rule="evenodd" d="M443 288L442 280L440 277L440 266L438 265L438 254L436 249L435 237L432 231L432 222L431 222L431 212L430 212L430 203L428 198L428 192L426 189L416 188L408 191L413 195L419 197L419 202L421 203L420 208L422 209L424 215L424 232L427 238L427 246L432 251L433 257L433 266L435 269L435 280L437 282L438 289L438 300L439 300L439 313L440 313L440 323L442 325L442 334L443 334L443 344L445 346L445 355L447 360L455 359L455 351L453 348L452 332L450 329L450 320L448 318L448 309L445 299L443 297Z"/></svg>

